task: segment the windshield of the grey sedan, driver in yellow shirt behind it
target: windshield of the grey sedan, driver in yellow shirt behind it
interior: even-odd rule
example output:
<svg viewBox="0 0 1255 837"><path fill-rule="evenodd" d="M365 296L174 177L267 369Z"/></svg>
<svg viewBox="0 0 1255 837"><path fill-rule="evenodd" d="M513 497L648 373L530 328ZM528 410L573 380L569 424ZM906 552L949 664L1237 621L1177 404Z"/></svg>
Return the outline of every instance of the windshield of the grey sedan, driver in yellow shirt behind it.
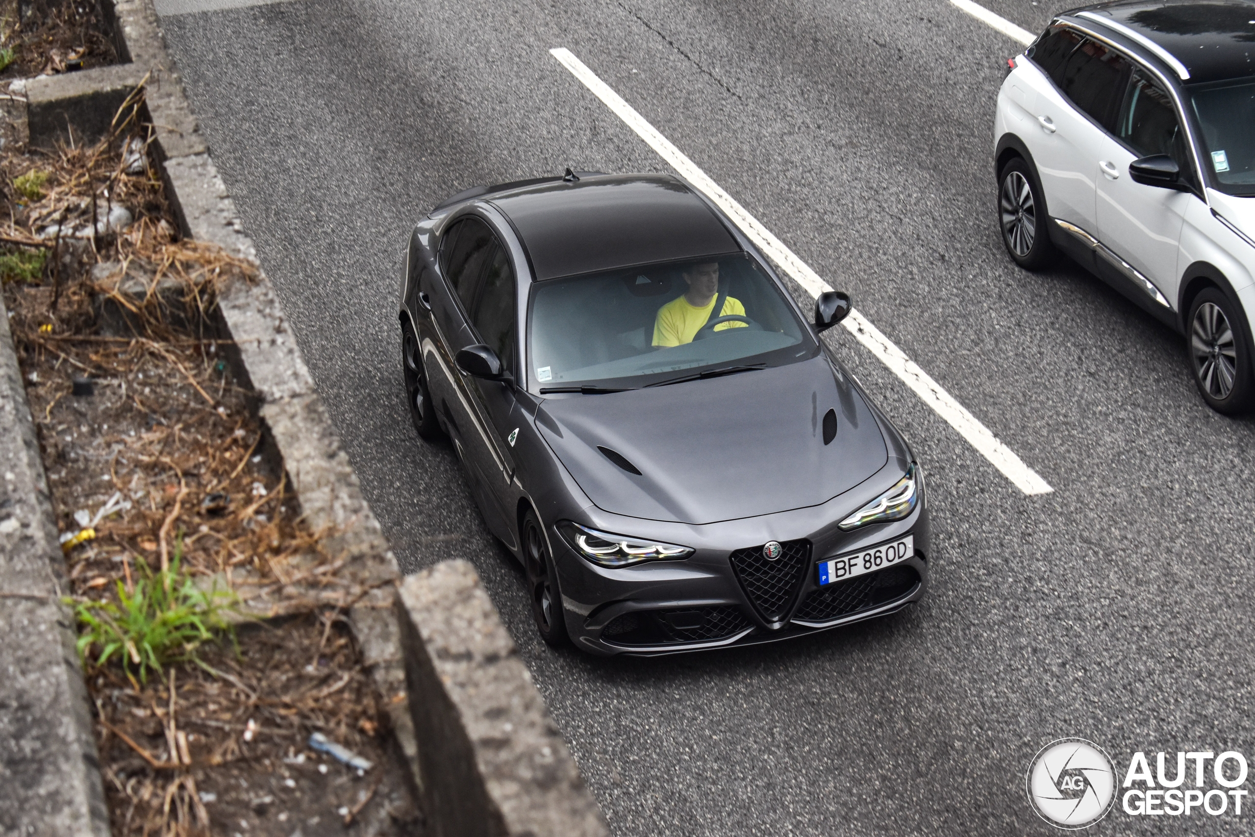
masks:
<svg viewBox="0 0 1255 837"><path fill-rule="evenodd" d="M777 285L744 253L532 286L528 361L540 393L778 366L818 350Z"/></svg>

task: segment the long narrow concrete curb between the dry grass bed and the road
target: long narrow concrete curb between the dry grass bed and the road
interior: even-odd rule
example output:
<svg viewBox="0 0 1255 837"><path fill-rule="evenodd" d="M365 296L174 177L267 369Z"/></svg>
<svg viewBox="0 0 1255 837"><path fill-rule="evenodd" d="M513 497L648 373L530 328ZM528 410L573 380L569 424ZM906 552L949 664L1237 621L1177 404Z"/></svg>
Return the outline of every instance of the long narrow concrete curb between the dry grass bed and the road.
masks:
<svg viewBox="0 0 1255 837"><path fill-rule="evenodd" d="M118 53L148 74L146 104L166 195L184 236L221 246L256 264L235 203L218 177L173 60L166 51L152 0L114 0ZM324 547L345 560L341 578L366 592L349 609L349 621L383 698L392 729L418 779L418 745L409 718L399 632L392 617L397 558L370 512L353 466L340 447L314 379L301 358L274 286L264 274L254 284L223 289L217 328L231 341L232 371L251 389L270 442L272 464L286 468L301 512Z"/></svg>

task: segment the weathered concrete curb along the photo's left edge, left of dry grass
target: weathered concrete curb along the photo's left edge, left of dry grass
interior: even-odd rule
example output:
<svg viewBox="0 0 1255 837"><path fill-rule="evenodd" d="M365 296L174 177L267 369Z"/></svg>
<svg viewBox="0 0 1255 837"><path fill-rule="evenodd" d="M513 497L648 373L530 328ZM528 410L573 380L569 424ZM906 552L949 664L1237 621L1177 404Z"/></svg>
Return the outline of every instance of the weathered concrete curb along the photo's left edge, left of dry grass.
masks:
<svg viewBox="0 0 1255 837"><path fill-rule="evenodd" d="M108 837L65 561L0 299L0 833Z"/></svg>

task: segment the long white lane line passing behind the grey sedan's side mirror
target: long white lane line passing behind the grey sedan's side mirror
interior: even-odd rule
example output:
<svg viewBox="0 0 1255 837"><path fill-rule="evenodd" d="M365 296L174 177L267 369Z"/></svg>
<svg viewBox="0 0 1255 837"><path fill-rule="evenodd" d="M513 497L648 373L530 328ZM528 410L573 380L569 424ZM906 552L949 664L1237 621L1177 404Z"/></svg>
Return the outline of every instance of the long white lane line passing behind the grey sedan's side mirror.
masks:
<svg viewBox="0 0 1255 837"><path fill-rule="evenodd" d="M692 159L684 156L679 148L658 133L654 125L649 124L636 110L622 100L610 85L602 82L584 63L563 46L550 50L562 67L569 69L594 95L601 99L606 107L615 112L629 128L636 132L641 139L649 143L658 154L679 172L680 177L700 189L714 203L728 213L728 216L740 227L750 241L753 241L772 261L779 265L784 272L806 289L812 296L818 296L825 291L831 291L832 286L820 279L811 267L797 257L792 250L772 235L772 232L758 222L754 216L719 188L719 184L707 177L707 173L698 168ZM931 407L937 415L944 418L950 427L968 440L983 457L989 459L995 468L1015 483L1015 487L1025 494L1044 494L1053 491L1032 468L1025 466L1005 444L989 432L976 417L966 410L959 402L954 400L939 383L929 378L927 373L920 369L914 360L906 356L894 341L886 338L857 310L851 310L841 321L855 338L866 346L876 358L897 375L902 383L910 387L925 404Z"/></svg>

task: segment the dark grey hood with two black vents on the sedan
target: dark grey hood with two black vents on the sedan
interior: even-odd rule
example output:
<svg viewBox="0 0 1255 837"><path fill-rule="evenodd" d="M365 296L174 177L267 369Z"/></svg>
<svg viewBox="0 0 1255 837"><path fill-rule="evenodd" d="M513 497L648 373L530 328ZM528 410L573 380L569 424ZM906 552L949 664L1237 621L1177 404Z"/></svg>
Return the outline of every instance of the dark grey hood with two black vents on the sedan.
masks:
<svg viewBox="0 0 1255 837"><path fill-rule="evenodd" d="M830 409L837 433L825 444ZM871 409L823 355L683 384L551 398L536 423L599 508L680 523L816 506L889 459ZM615 454L640 473L616 464Z"/></svg>

